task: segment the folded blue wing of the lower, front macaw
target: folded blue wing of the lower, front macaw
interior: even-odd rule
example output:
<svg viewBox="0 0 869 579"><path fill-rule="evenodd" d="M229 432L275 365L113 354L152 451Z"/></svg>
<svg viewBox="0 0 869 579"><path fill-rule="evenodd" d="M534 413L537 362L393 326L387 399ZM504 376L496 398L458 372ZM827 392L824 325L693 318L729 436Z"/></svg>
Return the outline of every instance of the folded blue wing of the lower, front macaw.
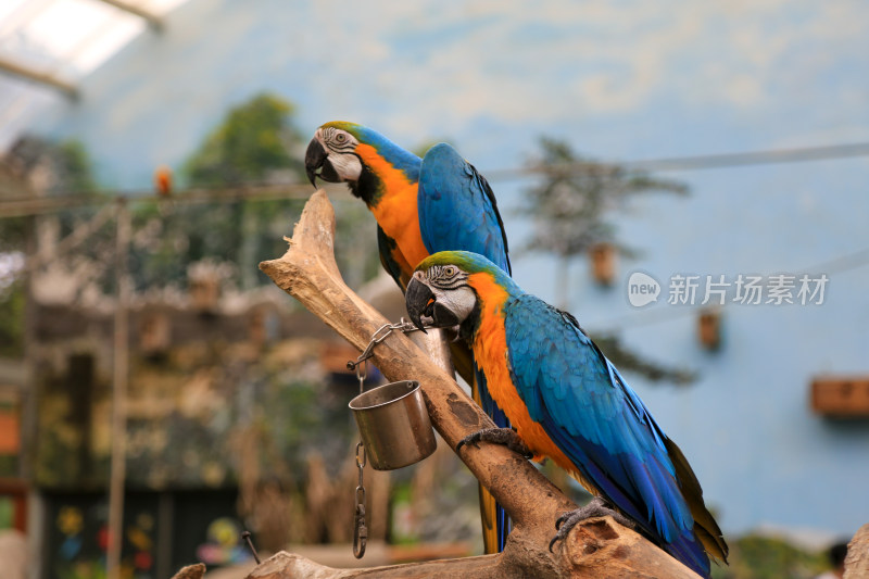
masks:
<svg viewBox="0 0 869 579"><path fill-rule="evenodd" d="M680 561L709 572L694 519L643 402L585 333L530 294L505 305L511 374L531 417L580 475ZM546 339L529 339L538 328Z"/></svg>

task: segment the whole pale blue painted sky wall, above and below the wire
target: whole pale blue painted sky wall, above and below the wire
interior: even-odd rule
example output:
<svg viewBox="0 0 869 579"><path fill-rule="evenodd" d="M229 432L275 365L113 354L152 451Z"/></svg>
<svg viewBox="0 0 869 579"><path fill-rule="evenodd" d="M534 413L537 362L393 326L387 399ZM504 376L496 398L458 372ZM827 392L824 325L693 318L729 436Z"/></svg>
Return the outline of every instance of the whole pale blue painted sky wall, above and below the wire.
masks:
<svg viewBox="0 0 869 579"><path fill-rule="evenodd" d="M407 148L448 139L483 173L521 166L540 135L604 160L869 141L869 4L858 1L287 2L190 0L34 126L81 139L106 187L144 189L178 166L234 104L268 90L326 121ZM301 154L301 153L300 153ZM690 388L632 383L731 532L758 526L851 536L869 513L869 425L810 413L814 376L867 374L869 160L668 173L616 224L642 250L613 290L572 268L570 309L641 354L696 369ZM493 184L513 247L528 180ZM833 264L833 265L831 265ZM556 263L514 260L552 300ZM630 272L829 273L821 306L728 306L725 345L703 351L695 310L637 311ZM666 299L666 291L663 298Z"/></svg>

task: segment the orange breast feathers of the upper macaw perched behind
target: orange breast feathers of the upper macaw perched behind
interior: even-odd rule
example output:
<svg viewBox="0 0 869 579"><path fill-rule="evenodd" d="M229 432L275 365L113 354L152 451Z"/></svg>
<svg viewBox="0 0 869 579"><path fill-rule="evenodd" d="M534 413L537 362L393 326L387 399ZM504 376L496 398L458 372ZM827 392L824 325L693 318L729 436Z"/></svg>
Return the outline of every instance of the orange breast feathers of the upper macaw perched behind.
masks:
<svg viewBox="0 0 869 579"><path fill-rule="evenodd" d="M356 146L356 153L382 184L382 194L377 204L368 209L383 232L395 240L401 254L393 252L393 259L402 272L410 275L416 264L428 257L419 230L417 184L411 181L403 171L392 166L370 144Z"/></svg>

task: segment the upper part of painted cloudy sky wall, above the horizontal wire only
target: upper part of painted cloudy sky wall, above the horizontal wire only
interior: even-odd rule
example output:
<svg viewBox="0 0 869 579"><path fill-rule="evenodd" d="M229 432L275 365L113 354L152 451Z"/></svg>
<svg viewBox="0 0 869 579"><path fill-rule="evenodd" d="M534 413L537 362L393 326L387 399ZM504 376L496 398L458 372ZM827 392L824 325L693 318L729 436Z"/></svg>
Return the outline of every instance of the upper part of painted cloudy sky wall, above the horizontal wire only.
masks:
<svg viewBox="0 0 869 579"><path fill-rule="evenodd" d="M543 133L607 159L869 140L867 23L857 1L192 0L42 126L84 137L123 188L261 90L305 131L449 138L480 168L521 164Z"/></svg>

